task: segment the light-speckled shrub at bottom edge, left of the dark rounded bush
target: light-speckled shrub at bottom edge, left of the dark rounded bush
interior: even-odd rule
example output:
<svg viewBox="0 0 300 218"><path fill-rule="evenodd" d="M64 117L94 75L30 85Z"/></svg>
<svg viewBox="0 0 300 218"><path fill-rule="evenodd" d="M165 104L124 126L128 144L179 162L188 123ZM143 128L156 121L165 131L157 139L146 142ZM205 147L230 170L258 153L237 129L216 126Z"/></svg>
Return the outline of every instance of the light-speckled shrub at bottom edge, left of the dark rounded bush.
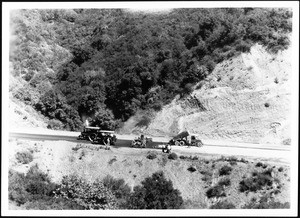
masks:
<svg viewBox="0 0 300 218"><path fill-rule="evenodd" d="M116 208L115 196L102 182L96 180L89 183L75 175L63 177L55 196L70 199L84 209Z"/></svg>

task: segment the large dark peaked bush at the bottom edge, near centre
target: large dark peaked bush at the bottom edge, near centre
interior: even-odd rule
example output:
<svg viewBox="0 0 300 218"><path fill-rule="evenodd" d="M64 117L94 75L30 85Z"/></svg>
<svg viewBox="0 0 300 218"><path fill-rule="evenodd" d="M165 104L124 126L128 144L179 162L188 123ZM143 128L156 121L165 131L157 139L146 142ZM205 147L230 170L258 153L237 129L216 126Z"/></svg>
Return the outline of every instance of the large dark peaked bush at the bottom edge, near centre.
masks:
<svg viewBox="0 0 300 218"><path fill-rule="evenodd" d="M173 188L162 171L154 173L135 186L127 201L127 209L180 209L183 199L179 190Z"/></svg>

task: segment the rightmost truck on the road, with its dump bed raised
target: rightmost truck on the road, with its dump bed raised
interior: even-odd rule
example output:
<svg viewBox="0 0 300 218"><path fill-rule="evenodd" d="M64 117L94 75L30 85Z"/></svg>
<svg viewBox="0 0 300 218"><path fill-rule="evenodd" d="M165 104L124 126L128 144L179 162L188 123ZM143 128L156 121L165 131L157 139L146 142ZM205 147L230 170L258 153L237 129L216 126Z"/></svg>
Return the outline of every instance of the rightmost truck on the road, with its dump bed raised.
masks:
<svg viewBox="0 0 300 218"><path fill-rule="evenodd" d="M191 135L191 140L188 140L188 136L190 134L188 131L183 131L179 133L178 135L174 136L168 144L170 145L177 145L177 146L196 146L201 147L203 146L203 142L200 139L197 139L195 135Z"/></svg>

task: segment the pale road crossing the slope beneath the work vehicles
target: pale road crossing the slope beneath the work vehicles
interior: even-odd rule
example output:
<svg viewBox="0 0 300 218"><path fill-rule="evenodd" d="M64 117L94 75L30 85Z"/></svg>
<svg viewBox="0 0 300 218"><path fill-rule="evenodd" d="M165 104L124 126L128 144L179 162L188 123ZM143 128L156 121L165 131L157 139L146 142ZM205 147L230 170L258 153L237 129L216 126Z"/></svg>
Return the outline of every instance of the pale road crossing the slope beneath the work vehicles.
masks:
<svg viewBox="0 0 300 218"><path fill-rule="evenodd" d="M75 143L91 142L85 140L77 140L79 133L61 133L48 132L46 133L29 133L29 132L10 132L10 138L28 139L34 141L70 141ZM117 135L117 143L114 147L130 147L131 141L135 136L132 135ZM169 138L153 137L151 147L155 145L156 149L160 148L160 145L166 143ZM252 158L260 158L274 162L289 163L291 159L290 146L278 146L278 145L259 145L248 143L228 143L202 140L204 142L203 147L187 147L187 146L172 146L172 151L180 154L219 154L219 155L233 155L244 156Z"/></svg>

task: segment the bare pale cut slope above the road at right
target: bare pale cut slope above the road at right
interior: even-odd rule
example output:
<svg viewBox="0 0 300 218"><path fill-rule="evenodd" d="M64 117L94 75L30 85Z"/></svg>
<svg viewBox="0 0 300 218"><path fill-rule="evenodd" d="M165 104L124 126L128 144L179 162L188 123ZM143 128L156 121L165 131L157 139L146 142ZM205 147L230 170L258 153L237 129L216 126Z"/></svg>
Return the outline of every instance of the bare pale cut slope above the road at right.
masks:
<svg viewBox="0 0 300 218"><path fill-rule="evenodd" d="M290 139L291 49L250 53L216 66L206 81L157 113L147 134L188 130L203 139L282 144Z"/></svg>

